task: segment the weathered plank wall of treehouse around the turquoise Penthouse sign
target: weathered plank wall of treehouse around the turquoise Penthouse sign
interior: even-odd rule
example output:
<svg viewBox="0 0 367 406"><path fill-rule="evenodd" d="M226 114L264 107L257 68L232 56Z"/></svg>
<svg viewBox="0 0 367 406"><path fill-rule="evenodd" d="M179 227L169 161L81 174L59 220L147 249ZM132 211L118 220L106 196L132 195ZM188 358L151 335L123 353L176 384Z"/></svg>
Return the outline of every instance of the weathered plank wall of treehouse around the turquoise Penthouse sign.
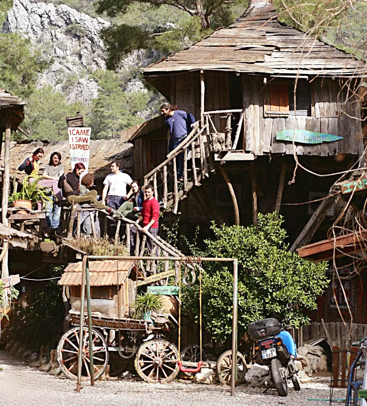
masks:
<svg viewBox="0 0 367 406"><path fill-rule="evenodd" d="M314 117L264 118L263 78L243 74L243 108L245 110L246 151L255 155L263 152L292 154L293 145L276 139L282 130L323 132L343 136L333 143L316 145L296 144L298 155L328 156L338 153L358 154L363 152L361 110L350 92L341 91L337 80L317 78L313 82L312 114ZM292 80L292 79L291 79ZM209 91L210 92L210 91ZM347 102L346 102L347 99ZM349 117L351 116L351 117ZM353 119L352 117L356 117Z"/></svg>

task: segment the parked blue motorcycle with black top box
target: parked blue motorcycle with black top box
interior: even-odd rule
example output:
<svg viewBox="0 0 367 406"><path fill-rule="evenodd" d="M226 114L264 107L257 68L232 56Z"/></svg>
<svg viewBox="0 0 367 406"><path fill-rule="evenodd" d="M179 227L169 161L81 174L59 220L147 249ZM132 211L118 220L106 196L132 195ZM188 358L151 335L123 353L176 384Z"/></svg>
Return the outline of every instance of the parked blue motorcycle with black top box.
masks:
<svg viewBox="0 0 367 406"><path fill-rule="evenodd" d="M287 306L288 307L288 306ZM255 356L258 363L268 365L269 373L279 396L288 395L287 379L291 379L295 391L299 391L296 343L277 319L259 320L249 326L251 339L256 341Z"/></svg>

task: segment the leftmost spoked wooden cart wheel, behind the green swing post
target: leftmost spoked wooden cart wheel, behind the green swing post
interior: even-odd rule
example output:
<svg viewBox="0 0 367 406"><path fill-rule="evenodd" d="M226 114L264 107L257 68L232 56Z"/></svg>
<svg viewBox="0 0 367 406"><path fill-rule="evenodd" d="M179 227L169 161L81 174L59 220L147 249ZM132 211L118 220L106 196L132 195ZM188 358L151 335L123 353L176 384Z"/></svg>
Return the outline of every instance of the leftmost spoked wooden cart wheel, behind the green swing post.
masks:
<svg viewBox="0 0 367 406"><path fill-rule="evenodd" d="M103 335L92 329L94 379L98 379L108 364L108 348ZM68 330L59 340L57 361L69 379L77 379L79 354L79 327ZM90 346L88 327L83 329L82 379L90 378Z"/></svg>

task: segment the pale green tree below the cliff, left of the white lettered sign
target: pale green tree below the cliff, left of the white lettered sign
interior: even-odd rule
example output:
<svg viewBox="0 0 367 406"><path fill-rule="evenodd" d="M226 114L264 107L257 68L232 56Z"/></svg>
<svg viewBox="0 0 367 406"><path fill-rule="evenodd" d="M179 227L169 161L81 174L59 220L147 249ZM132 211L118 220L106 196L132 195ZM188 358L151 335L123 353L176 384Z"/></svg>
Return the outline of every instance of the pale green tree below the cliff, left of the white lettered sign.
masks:
<svg viewBox="0 0 367 406"><path fill-rule="evenodd" d="M66 97L53 91L49 85L36 89L27 98L28 108L22 127L31 140L67 140L65 117L75 115L76 111L86 111L82 102L68 104Z"/></svg>

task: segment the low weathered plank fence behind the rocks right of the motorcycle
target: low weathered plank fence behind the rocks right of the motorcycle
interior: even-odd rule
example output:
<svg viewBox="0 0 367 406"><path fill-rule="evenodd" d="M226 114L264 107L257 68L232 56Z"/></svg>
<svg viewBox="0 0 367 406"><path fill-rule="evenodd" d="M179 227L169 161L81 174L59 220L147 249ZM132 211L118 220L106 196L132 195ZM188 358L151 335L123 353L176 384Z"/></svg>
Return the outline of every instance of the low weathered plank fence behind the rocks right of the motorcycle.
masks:
<svg viewBox="0 0 367 406"><path fill-rule="evenodd" d="M367 324L347 323L325 323L326 329L330 335L331 345L339 348L350 350L352 343L363 337L367 337ZM349 330L351 328L352 337L349 338ZM325 330L322 323L311 323L308 326L303 326L303 342L325 337Z"/></svg>

